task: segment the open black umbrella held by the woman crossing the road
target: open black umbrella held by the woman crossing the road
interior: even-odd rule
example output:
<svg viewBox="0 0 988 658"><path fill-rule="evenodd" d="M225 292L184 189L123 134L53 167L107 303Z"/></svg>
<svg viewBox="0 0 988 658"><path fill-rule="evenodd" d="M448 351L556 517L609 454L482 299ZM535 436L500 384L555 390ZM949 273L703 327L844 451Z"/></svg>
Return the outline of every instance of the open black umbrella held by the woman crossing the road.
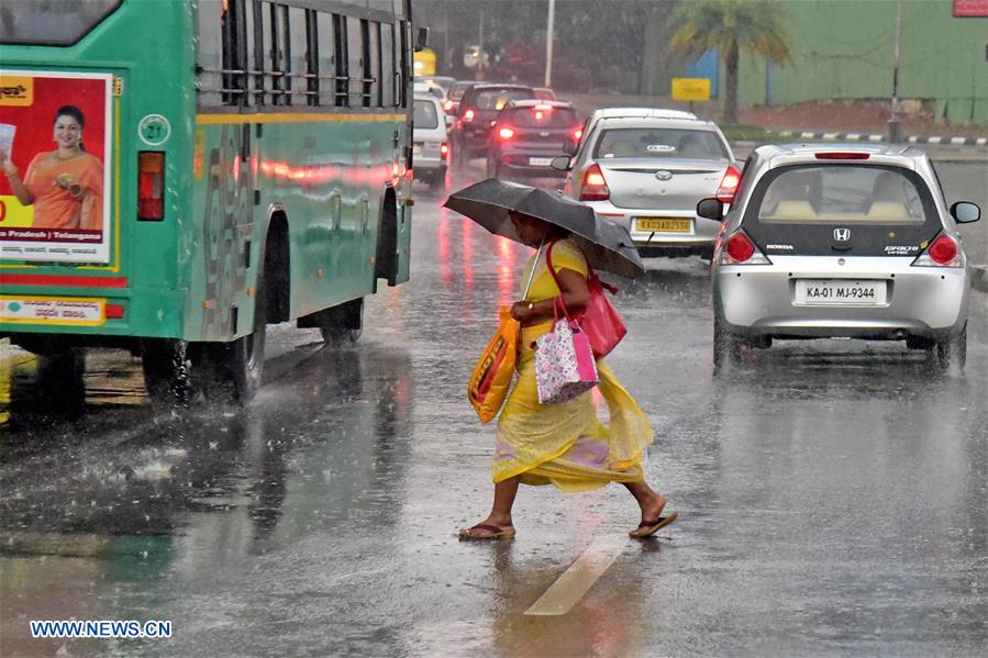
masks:
<svg viewBox="0 0 988 658"><path fill-rule="evenodd" d="M488 178L453 192L443 205L515 242L521 238L508 213L524 213L573 233L595 269L632 278L645 271L628 228L600 220L592 208L556 190Z"/></svg>

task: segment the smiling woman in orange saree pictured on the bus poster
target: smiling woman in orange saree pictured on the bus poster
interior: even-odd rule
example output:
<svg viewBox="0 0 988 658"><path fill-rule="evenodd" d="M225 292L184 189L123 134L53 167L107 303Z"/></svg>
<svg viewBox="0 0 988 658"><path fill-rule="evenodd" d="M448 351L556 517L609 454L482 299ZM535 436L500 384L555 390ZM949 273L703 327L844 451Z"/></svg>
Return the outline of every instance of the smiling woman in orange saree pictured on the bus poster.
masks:
<svg viewBox="0 0 988 658"><path fill-rule="evenodd" d="M23 180L9 154L0 150L3 174L18 201L34 205L32 228L102 230L103 164L86 153L85 126L79 108L58 108L54 122L57 148L34 156Z"/></svg>

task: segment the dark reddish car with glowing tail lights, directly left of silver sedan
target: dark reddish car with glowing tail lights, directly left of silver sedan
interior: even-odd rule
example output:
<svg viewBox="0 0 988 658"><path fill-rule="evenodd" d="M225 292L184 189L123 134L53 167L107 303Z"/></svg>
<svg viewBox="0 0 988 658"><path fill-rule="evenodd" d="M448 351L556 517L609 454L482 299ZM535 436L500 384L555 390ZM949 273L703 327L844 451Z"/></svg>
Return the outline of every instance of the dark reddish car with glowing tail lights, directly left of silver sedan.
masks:
<svg viewBox="0 0 988 658"><path fill-rule="evenodd" d="M562 177L554 157L569 155L579 142L584 123L573 104L562 101L519 100L499 113L487 156L492 178Z"/></svg>

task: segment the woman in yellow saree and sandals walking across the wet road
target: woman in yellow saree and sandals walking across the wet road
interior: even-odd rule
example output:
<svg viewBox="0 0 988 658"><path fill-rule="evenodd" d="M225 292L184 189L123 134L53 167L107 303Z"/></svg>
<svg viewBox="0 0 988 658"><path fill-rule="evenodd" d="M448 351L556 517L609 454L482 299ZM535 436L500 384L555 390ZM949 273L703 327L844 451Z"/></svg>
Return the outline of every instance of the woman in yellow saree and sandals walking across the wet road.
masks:
<svg viewBox="0 0 988 658"><path fill-rule="evenodd" d="M512 316L522 325L518 380L498 421L493 505L486 518L462 529L459 536L513 537L511 509L519 484L555 484L563 491L576 492L609 482L623 484L641 509L641 524L630 535L652 536L675 521L677 513L663 516L666 499L645 481L641 462L646 446L653 442L652 426L607 364L597 361L598 390L607 402L608 424L598 419L591 391L558 404L539 403L533 346L539 336L553 331L555 298L562 295L570 315L587 305L587 258L566 228L520 212L512 211L509 216L520 241L539 252L526 270L534 268L528 294L511 306ZM549 244L558 285L546 265L548 249L540 248Z"/></svg>

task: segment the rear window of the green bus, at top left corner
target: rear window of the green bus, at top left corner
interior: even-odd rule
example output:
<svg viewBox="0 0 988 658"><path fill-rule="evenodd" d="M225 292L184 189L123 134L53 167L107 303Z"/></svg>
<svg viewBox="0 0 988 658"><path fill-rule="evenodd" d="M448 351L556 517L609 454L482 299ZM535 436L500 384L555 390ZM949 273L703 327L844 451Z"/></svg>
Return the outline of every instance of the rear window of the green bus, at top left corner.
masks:
<svg viewBox="0 0 988 658"><path fill-rule="evenodd" d="M0 43L70 46L116 9L122 0L3 0Z"/></svg>

